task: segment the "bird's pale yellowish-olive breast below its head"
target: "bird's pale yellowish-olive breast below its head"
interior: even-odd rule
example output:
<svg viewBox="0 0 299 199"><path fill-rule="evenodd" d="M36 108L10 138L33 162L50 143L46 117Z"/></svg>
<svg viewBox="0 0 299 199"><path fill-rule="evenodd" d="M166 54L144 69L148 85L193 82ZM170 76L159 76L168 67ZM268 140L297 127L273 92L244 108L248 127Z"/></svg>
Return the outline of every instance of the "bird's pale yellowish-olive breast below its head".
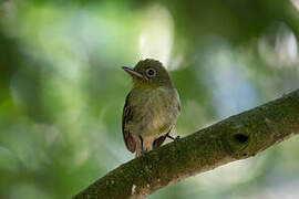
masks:
<svg viewBox="0 0 299 199"><path fill-rule="evenodd" d="M134 133L140 135L166 134L179 114L179 100L175 90L156 88L133 92ZM135 96L134 96L135 95Z"/></svg>

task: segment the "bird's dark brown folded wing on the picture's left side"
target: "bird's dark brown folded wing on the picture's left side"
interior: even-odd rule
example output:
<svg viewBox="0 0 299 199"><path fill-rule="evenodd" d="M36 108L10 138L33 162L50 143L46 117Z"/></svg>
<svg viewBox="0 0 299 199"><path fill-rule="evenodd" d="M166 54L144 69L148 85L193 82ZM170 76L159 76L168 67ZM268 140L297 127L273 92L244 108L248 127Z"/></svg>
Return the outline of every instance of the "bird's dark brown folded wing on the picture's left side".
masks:
<svg viewBox="0 0 299 199"><path fill-rule="evenodd" d="M127 94L126 100L125 100L125 105L124 105L124 109L123 109L122 128L123 128L123 137L124 137L124 142L125 142L125 146L130 151L134 153L135 148L136 148L136 143L135 143L134 138L132 137L130 129L127 129L125 127L130 123L130 121L133 118L132 107L128 103L130 94L131 93Z"/></svg>

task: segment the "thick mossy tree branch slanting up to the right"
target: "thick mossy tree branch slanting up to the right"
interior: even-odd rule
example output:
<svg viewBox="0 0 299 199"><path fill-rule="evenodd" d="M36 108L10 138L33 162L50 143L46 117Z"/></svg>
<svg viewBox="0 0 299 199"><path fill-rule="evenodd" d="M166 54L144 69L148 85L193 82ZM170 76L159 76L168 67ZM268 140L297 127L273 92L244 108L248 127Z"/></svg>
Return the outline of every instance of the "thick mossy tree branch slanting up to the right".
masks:
<svg viewBox="0 0 299 199"><path fill-rule="evenodd" d="M74 199L142 198L298 134L299 90L123 164Z"/></svg>

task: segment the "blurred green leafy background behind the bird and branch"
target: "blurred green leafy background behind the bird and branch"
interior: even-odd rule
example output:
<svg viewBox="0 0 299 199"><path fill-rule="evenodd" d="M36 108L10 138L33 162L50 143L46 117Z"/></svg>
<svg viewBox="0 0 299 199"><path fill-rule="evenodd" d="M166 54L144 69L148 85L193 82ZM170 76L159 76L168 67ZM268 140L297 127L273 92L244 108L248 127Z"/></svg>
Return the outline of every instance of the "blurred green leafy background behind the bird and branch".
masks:
<svg viewBox="0 0 299 199"><path fill-rule="evenodd" d="M167 66L186 136L299 88L298 38L299 0L0 0L0 198L70 198L134 158L122 65ZM148 198L299 198L298 142Z"/></svg>

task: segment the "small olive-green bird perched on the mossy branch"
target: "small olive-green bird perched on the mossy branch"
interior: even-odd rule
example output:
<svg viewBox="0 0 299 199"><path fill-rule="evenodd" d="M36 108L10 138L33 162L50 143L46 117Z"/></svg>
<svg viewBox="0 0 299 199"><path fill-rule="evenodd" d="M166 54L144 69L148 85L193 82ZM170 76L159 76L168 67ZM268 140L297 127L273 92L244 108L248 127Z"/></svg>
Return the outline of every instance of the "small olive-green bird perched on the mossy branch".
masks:
<svg viewBox="0 0 299 199"><path fill-rule="evenodd" d="M133 78L133 88L123 109L123 137L136 157L159 147L179 115L179 96L161 62L142 60L135 67L123 66ZM177 137L178 138L178 137Z"/></svg>

